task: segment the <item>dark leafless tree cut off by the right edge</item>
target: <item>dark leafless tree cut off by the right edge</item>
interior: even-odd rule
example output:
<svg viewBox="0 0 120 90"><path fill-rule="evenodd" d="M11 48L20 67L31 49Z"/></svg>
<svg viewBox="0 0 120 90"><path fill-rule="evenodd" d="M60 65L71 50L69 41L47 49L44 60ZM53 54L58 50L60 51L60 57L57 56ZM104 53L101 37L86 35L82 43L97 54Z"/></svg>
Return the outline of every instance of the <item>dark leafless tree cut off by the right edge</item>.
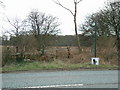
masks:
<svg viewBox="0 0 120 90"><path fill-rule="evenodd" d="M118 60L120 61L120 1L114 0L114 2L108 3L108 7L102 11L102 14L110 27L109 31L116 36Z"/></svg>

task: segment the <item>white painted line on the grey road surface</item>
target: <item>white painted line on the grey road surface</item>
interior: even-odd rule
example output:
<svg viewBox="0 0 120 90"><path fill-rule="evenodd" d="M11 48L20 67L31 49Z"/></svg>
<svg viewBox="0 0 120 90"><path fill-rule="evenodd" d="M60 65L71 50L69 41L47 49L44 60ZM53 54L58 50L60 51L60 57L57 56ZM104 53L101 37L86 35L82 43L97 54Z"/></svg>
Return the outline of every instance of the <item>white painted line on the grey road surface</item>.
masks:
<svg viewBox="0 0 120 90"><path fill-rule="evenodd" d="M83 86L83 84L50 85L50 86L36 86L36 87L24 87L24 88L57 88L57 87L75 87L75 86Z"/></svg>

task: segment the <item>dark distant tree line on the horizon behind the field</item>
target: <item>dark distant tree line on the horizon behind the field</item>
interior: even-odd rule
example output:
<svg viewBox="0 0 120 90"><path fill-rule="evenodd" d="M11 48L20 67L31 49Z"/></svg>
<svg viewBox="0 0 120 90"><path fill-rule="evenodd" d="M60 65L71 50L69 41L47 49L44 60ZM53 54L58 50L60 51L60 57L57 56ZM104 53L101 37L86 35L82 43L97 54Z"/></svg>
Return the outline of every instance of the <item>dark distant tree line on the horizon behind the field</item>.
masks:
<svg viewBox="0 0 120 90"><path fill-rule="evenodd" d="M28 38L30 39L30 37L32 36L21 36L24 38ZM2 39L2 44L4 46L15 46L15 39L16 37L11 37L9 40L5 40ZM81 46L83 47L90 47L93 44L93 36L83 36L83 35L79 35L79 39L81 42ZM31 39L32 40L32 39ZM76 38L74 35L50 35L49 39L47 40L46 46L77 46L76 43ZM29 45L29 48L31 48L31 44L32 41L30 43L28 43L27 41L24 41L27 43L27 45ZM21 43L22 45L22 43ZM32 43L32 46L35 47L35 45ZM27 49L27 48L26 48Z"/></svg>

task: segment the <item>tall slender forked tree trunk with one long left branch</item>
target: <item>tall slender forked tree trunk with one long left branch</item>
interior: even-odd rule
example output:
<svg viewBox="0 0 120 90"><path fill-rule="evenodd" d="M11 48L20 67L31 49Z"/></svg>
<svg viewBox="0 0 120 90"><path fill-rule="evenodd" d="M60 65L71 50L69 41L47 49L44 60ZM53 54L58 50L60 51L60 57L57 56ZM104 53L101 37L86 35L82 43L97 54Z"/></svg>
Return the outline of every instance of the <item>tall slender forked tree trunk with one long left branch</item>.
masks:
<svg viewBox="0 0 120 90"><path fill-rule="evenodd" d="M76 41L77 41L77 44L78 44L78 49L79 49L79 52L81 52L81 48L80 48L80 40L79 40L79 35L78 35L78 32L77 32L77 5L81 2L82 0L74 0L74 9L75 11L72 12L72 10L70 10L69 8L63 6L60 1L54 1L56 4L58 4L59 6L61 6L62 8L66 9L67 11L69 11L71 13L71 15L74 17L74 27L75 27L75 34L76 34Z"/></svg>

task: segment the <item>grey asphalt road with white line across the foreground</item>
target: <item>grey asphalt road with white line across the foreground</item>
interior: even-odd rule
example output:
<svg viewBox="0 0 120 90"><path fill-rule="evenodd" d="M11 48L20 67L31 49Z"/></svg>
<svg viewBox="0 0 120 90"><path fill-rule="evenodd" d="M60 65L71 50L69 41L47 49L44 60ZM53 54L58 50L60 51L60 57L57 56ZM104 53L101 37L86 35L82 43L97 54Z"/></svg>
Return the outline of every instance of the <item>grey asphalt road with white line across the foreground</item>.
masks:
<svg viewBox="0 0 120 90"><path fill-rule="evenodd" d="M2 88L118 88L118 71L42 71L2 74Z"/></svg>

